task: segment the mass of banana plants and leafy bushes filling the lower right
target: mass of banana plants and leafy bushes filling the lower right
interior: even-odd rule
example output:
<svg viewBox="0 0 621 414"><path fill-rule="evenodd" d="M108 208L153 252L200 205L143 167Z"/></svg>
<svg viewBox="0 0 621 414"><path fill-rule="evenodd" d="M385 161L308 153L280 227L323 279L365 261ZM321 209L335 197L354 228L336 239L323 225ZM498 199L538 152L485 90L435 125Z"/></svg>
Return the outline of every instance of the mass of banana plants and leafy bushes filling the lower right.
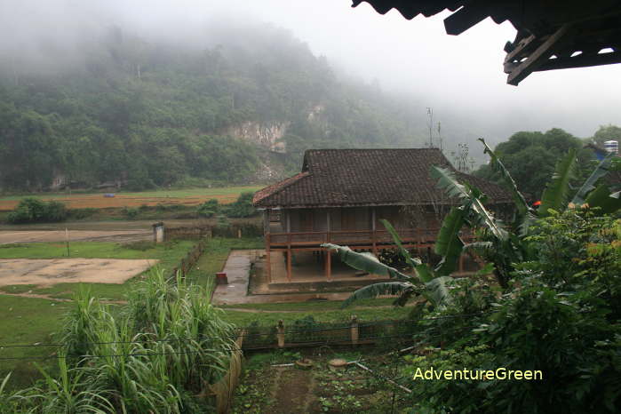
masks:
<svg viewBox="0 0 621 414"><path fill-rule="evenodd" d="M426 299L411 313L419 318L412 329L417 331L414 338L423 352L409 355L409 365L402 369L414 390L409 396L412 410L617 412L621 404L617 380L621 219L620 206L609 201L617 200L611 192L618 188L609 188L602 180L606 171L618 171L619 163L612 158L602 161L576 193L569 186L576 155L569 149L556 163L535 217L499 157L485 148L491 156L490 169L514 195L513 222L506 226L487 211L482 204L485 195L476 187L434 167L440 186L460 200L444 219L435 246L442 260L433 271L433 280L441 281L437 287L445 290L442 299L430 300L437 289L428 285L429 268L411 259L408 251L400 249L416 270L412 277L336 246L350 266L378 267L398 280L356 291L346 303L388 290L402 294L397 300L400 305L411 296ZM574 203L568 204L572 193L576 193ZM585 203L589 199L593 203ZM459 237L464 226L476 230L480 241L465 245ZM398 243L398 235L394 238ZM488 283L437 277L471 249L490 264L488 270L493 269L501 295ZM438 347L442 352L437 352ZM465 367L471 371L470 378L427 381L420 373ZM481 382L472 378L474 373L498 368L529 370L530 375L540 371L543 380L524 376Z"/></svg>

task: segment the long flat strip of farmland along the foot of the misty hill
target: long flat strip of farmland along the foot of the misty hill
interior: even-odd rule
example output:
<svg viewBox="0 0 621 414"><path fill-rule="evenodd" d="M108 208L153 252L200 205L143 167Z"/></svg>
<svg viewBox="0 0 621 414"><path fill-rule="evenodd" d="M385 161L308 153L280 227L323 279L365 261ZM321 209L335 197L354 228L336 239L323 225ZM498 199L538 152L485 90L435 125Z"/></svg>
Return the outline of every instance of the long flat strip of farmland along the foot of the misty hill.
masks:
<svg viewBox="0 0 621 414"><path fill-rule="evenodd" d="M217 188L189 188L180 190L157 190L138 193L41 193L33 195L0 196L0 211L11 211L26 196L35 196L43 200L54 200L65 203L69 209L107 209L123 207L139 207L141 205L177 204L193 206L215 198L219 203L233 203L237 197L246 191L257 191L261 188L244 187L217 187ZM114 194L114 196L106 196Z"/></svg>

